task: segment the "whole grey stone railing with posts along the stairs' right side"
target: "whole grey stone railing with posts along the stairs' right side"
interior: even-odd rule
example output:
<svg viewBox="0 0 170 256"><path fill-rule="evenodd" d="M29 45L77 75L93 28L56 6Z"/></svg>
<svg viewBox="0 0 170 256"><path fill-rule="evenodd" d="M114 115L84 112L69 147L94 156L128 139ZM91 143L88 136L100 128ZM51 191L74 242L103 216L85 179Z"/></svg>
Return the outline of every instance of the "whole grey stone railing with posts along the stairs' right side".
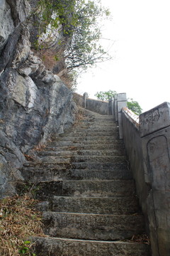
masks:
<svg viewBox="0 0 170 256"><path fill-rule="evenodd" d="M120 138L135 179L137 196L151 239L152 256L170 255L170 103L140 117L127 107L125 94L112 100Z"/></svg>

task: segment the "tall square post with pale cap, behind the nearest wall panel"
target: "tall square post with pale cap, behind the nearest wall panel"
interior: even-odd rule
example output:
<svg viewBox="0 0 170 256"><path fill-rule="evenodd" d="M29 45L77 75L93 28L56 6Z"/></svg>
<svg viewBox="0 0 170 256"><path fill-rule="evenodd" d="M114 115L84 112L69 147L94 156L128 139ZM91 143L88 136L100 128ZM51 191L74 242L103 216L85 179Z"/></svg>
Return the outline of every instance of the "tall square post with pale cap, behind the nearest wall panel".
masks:
<svg viewBox="0 0 170 256"><path fill-rule="evenodd" d="M127 106L126 93L118 93L118 126L119 138L123 139L122 109Z"/></svg>

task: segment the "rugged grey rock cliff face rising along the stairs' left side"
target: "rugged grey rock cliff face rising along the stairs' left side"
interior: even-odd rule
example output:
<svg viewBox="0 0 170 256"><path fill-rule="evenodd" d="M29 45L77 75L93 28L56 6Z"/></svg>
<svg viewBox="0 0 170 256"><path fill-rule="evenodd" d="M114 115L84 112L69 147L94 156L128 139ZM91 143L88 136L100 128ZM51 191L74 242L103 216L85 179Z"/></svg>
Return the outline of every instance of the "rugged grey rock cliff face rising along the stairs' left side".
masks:
<svg viewBox="0 0 170 256"><path fill-rule="evenodd" d="M35 145L73 124L69 90L30 49L26 0L0 2L0 197L15 193Z"/></svg>

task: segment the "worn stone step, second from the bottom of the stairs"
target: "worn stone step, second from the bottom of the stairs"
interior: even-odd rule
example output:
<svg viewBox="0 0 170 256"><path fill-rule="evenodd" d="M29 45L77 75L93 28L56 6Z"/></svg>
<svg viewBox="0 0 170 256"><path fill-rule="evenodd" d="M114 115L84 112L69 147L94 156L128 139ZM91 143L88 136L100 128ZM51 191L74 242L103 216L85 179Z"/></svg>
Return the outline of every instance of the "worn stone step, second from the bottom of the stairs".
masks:
<svg viewBox="0 0 170 256"><path fill-rule="evenodd" d="M51 237L123 240L144 233L142 215L42 213L45 234Z"/></svg>

